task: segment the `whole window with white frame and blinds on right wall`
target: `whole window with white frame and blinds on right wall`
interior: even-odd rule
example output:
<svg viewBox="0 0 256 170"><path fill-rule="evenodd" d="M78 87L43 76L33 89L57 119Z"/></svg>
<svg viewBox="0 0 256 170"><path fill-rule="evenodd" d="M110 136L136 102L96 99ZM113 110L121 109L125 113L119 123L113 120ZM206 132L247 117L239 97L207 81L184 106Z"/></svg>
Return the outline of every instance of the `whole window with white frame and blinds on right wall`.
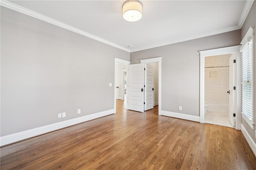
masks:
<svg viewBox="0 0 256 170"><path fill-rule="evenodd" d="M254 27L251 27L243 38L240 48L242 75L242 117L254 129L253 106L253 40Z"/></svg>

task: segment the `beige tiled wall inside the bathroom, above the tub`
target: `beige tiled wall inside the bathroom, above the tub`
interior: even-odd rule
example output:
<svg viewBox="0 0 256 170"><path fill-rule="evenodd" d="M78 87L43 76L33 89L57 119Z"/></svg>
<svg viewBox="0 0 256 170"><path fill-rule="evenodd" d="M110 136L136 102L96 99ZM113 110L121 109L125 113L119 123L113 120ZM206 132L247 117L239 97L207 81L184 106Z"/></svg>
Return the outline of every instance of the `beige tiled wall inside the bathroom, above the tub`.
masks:
<svg viewBox="0 0 256 170"><path fill-rule="evenodd" d="M230 56L231 54L205 57L204 101L206 103L228 105Z"/></svg>

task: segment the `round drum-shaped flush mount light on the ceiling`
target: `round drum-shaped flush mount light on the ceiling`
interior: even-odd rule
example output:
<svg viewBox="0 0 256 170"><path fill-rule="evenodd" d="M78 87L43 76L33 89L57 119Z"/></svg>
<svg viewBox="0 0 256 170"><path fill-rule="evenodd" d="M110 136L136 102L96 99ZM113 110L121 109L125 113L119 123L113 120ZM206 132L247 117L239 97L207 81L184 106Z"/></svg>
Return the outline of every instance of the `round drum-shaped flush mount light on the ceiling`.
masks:
<svg viewBox="0 0 256 170"><path fill-rule="evenodd" d="M123 4L123 18L135 22L142 17L142 3L138 0L128 0Z"/></svg>

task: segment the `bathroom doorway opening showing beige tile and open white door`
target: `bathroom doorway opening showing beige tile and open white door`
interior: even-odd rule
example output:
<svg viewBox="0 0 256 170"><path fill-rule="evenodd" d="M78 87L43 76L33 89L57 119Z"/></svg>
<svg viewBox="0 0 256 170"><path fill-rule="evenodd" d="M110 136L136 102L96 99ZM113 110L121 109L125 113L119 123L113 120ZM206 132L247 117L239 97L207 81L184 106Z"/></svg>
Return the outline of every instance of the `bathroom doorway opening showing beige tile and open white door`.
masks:
<svg viewBox="0 0 256 170"><path fill-rule="evenodd" d="M234 54L233 54L234 55ZM229 119L230 102L230 71L233 74L232 54L213 55L205 57L204 61L204 122L234 127ZM233 60L232 60L233 61ZM231 65L230 65L231 64ZM232 93L233 94L233 93ZM231 94L231 95L232 95ZM231 98L232 100L233 98ZM232 106L231 106L232 107ZM232 109L232 108L231 108ZM232 118L233 119L233 118ZM231 122L230 122L231 120Z"/></svg>

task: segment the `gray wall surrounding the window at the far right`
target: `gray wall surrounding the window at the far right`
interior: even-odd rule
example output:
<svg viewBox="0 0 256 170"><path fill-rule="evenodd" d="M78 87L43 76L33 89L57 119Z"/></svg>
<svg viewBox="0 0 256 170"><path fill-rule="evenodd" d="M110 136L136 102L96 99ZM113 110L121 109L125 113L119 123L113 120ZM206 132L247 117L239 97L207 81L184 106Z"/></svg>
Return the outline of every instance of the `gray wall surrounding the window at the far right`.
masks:
<svg viewBox="0 0 256 170"><path fill-rule="evenodd" d="M256 2L254 1L252 8L244 22L244 25L242 26L241 29L241 37L242 39L244 38L246 32L250 28L250 26L256 26ZM254 32L256 32L256 28L254 28ZM254 45L256 47L256 36L254 35ZM256 67L256 52L254 51L254 65ZM256 80L256 75L254 74L254 80ZM254 81L255 82L255 81ZM256 86L256 83L254 83L254 86ZM256 88L255 88L256 89ZM254 96L256 96L256 91L254 91ZM255 98L254 98L255 99ZM254 101L255 103L255 101ZM256 109L254 108L254 114L256 114ZM256 122L256 117L255 117L255 122ZM256 142L256 136L255 136L255 130L252 130L252 128L247 124L244 119L242 119L242 125L244 128L246 128L247 132L250 134L254 142Z"/></svg>

